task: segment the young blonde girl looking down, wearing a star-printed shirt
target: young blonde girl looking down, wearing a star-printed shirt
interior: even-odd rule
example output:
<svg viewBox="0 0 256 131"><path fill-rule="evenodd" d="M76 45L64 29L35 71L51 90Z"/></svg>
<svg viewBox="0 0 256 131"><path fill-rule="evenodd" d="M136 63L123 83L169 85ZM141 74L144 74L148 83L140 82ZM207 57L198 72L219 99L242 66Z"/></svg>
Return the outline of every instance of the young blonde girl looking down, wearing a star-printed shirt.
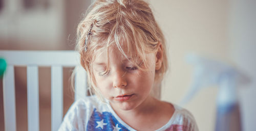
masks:
<svg viewBox="0 0 256 131"><path fill-rule="evenodd" d="M95 95L75 101L59 130L198 130L185 109L152 94L167 69L163 34L142 0L98 0L77 48Z"/></svg>

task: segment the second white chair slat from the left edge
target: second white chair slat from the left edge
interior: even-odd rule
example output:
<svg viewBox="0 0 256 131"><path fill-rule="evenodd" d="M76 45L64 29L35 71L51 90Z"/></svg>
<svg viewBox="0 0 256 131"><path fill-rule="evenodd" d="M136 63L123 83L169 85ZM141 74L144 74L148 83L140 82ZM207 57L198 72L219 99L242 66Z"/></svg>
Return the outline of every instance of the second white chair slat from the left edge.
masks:
<svg viewBox="0 0 256 131"><path fill-rule="evenodd" d="M38 67L27 66L28 130L39 131Z"/></svg>

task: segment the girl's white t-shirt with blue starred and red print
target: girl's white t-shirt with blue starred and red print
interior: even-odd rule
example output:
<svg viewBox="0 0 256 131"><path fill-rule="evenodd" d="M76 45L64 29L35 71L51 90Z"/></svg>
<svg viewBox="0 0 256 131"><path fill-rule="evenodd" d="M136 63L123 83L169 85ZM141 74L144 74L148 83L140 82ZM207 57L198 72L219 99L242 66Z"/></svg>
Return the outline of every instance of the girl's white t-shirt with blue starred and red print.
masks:
<svg viewBox="0 0 256 131"><path fill-rule="evenodd" d="M196 121L187 110L174 104L175 112L170 120L157 131L198 131ZM109 103L101 102L96 96L75 101L58 131L86 131L86 130L131 130L114 112Z"/></svg>

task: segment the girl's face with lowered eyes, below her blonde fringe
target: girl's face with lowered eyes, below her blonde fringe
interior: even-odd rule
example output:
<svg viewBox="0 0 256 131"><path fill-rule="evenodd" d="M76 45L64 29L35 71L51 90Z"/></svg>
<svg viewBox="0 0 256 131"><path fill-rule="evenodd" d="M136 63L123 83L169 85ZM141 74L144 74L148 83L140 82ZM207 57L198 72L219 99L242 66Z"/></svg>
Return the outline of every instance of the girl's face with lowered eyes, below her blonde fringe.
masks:
<svg viewBox="0 0 256 131"><path fill-rule="evenodd" d="M103 97L110 101L114 109L132 110L143 105L142 103L151 97L150 92L155 78L155 54L146 56L149 63L147 71L139 70L118 49L112 49L109 51L110 70L103 74L108 65L107 59L105 51L97 54L93 62L96 86Z"/></svg>

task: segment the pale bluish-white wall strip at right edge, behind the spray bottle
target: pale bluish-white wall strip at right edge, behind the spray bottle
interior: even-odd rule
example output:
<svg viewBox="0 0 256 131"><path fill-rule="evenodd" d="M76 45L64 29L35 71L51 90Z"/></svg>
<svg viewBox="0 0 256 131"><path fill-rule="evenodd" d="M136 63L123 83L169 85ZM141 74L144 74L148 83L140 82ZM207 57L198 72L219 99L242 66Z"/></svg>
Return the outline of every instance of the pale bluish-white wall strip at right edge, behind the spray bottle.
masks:
<svg viewBox="0 0 256 131"><path fill-rule="evenodd" d="M230 58L250 76L250 84L240 88L243 130L256 130L256 1L230 1Z"/></svg>

